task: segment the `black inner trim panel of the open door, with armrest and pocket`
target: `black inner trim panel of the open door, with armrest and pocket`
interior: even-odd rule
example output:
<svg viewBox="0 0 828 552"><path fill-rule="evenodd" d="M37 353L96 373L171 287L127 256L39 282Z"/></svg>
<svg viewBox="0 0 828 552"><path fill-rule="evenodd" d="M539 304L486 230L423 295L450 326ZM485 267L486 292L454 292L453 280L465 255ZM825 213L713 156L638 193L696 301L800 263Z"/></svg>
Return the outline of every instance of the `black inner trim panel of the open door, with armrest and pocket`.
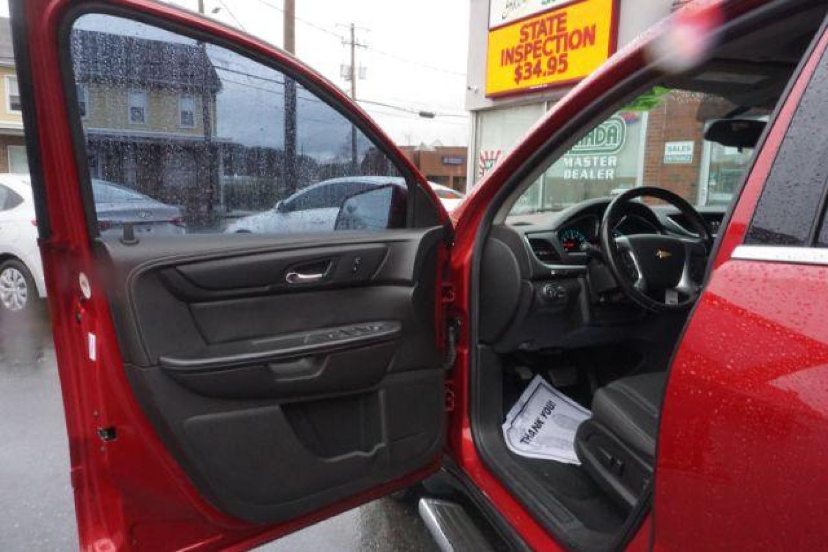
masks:
<svg viewBox="0 0 828 552"><path fill-rule="evenodd" d="M215 506L286 521L434 461L443 233L99 239L132 390Z"/></svg>

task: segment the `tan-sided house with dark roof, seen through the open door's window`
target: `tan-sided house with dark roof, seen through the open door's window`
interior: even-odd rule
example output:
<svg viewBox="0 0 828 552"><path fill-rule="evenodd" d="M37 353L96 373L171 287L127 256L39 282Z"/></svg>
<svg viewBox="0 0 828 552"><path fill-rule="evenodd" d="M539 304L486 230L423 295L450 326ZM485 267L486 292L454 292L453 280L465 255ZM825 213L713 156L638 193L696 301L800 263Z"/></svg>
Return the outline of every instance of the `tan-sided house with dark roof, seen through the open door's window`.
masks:
<svg viewBox="0 0 828 552"><path fill-rule="evenodd" d="M219 158L223 142L222 84L205 49L77 29L70 47L90 175L167 204L204 204L195 196L210 190L198 182L216 180L206 171L219 167L203 160Z"/></svg>

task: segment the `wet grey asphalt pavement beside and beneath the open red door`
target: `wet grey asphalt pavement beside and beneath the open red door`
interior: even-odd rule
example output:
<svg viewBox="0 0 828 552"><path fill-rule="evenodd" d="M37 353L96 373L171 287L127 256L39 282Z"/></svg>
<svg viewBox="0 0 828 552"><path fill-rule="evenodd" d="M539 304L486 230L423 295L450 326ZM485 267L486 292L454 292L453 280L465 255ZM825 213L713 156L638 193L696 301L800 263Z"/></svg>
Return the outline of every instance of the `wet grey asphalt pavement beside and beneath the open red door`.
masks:
<svg viewBox="0 0 828 552"><path fill-rule="evenodd" d="M46 314L0 319L0 551L77 550L63 402ZM436 550L385 498L258 550Z"/></svg>

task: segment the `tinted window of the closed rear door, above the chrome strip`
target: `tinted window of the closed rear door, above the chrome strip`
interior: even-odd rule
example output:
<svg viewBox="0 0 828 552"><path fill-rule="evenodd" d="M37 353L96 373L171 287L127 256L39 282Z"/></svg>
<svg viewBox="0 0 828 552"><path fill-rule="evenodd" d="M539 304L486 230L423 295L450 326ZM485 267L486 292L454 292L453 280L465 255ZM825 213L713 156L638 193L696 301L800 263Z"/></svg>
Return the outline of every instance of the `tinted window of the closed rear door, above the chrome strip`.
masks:
<svg viewBox="0 0 828 552"><path fill-rule="evenodd" d="M814 243L826 203L826 113L828 58L823 55L773 161L745 243L792 247ZM826 232L822 228L817 240L822 246L828 245Z"/></svg>

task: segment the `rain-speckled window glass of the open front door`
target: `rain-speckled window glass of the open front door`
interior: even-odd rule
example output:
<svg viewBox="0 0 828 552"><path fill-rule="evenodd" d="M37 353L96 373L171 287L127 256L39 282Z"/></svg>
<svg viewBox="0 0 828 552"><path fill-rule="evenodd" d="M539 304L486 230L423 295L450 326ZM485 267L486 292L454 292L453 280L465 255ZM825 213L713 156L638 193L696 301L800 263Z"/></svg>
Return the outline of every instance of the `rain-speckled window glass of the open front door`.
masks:
<svg viewBox="0 0 828 552"><path fill-rule="evenodd" d="M79 17L69 46L101 233L333 232L349 201L372 207L361 229L405 225L388 156L281 71L108 15ZM291 216L305 209L325 211Z"/></svg>

